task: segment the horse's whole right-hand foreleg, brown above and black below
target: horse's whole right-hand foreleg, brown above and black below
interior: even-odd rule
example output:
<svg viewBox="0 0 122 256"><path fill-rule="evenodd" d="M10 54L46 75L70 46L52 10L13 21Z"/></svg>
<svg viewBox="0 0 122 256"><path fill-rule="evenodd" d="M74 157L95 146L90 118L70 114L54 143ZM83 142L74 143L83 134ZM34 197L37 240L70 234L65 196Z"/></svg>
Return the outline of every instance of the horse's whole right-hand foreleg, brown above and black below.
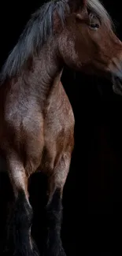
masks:
<svg viewBox="0 0 122 256"><path fill-rule="evenodd" d="M63 155L53 173L48 177L49 200L46 206L48 227L46 256L65 256L65 250L61 243L62 195L69 165L70 156Z"/></svg>

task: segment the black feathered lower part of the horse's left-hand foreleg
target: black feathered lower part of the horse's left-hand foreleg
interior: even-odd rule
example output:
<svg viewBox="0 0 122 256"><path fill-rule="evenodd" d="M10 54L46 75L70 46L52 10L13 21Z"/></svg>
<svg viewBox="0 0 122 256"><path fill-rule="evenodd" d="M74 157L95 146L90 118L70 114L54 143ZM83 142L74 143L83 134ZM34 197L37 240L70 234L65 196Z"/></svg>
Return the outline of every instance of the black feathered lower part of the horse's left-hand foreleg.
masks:
<svg viewBox="0 0 122 256"><path fill-rule="evenodd" d="M36 255L31 241L32 209L24 191L19 191L9 214L7 249L11 255Z"/></svg>

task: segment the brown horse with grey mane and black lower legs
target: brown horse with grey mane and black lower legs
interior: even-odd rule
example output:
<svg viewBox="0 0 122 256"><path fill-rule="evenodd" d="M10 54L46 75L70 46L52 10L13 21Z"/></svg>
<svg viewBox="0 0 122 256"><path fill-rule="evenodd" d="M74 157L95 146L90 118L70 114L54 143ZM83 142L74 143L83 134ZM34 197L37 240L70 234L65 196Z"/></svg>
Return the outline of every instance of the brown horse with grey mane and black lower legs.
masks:
<svg viewBox="0 0 122 256"><path fill-rule="evenodd" d="M105 76L121 93L121 64L122 43L99 0L45 2L31 15L0 74L1 171L13 187L6 236L11 255L39 254L31 237L28 179L41 171L47 177L43 253L65 256L62 198L75 145L75 117L61 83L65 65Z"/></svg>

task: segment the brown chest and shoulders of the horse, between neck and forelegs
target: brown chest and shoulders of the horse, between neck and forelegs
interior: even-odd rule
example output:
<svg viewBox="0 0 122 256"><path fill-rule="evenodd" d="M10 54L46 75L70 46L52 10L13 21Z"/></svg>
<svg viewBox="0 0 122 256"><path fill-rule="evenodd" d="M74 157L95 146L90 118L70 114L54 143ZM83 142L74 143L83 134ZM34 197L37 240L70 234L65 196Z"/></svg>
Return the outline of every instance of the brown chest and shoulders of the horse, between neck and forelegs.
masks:
<svg viewBox="0 0 122 256"><path fill-rule="evenodd" d="M61 84L62 71L57 69L57 65L53 67L55 70L51 70L50 61L50 74L46 73L46 69L43 74L43 64L46 63L42 61L43 64L40 65L40 61L35 63L35 70L30 71L29 76L25 75L24 79L19 77L16 81L13 79L13 83L4 84L3 89L6 93L1 93L1 102L4 106L4 109L1 109L5 115L1 114L0 121L1 124L6 122L6 129L4 126L1 127L1 149L8 156L8 161L22 160L19 164L20 172L17 170L16 173L18 186L21 186L21 179L24 185L25 176L28 179L37 169L54 180L54 170L59 168L57 166L61 165L61 161L63 168L60 168L64 172L63 184L58 180L58 171L55 179L58 185L64 186L73 148L74 116ZM40 76L37 76L37 70ZM38 81L35 81L35 77ZM17 91L19 94L15 98ZM18 169L18 162L16 164ZM18 178L19 176L21 178Z"/></svg>

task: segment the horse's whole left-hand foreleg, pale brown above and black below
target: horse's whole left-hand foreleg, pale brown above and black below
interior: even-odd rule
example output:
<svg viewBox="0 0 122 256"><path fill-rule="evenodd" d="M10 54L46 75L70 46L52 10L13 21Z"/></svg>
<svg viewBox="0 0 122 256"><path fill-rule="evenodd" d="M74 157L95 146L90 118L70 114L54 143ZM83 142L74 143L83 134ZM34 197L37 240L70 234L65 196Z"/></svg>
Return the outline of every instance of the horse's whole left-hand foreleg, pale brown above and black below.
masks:
<svg viewBox="0 0 122 256"><path fill-rule="evenodd" d="M37 255L31 239L32 209L28 200L28 179L16 155L8 158L9 178L14 201L7 224L7 249L12 256Z"/></svg>

